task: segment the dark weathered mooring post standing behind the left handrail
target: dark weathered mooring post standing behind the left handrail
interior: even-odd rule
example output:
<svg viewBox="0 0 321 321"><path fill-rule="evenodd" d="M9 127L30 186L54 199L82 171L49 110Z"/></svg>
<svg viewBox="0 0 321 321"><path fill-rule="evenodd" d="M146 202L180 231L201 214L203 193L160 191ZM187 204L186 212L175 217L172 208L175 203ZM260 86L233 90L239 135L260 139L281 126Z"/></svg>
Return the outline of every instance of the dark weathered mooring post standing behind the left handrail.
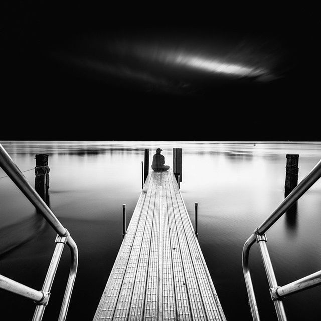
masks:
<svg viewBox="0 0 321 321"><path fill-rule="evenodd" d="M35 166L35 190L46 201L49 189L49 171L47 154L37 154Z"/></svg>

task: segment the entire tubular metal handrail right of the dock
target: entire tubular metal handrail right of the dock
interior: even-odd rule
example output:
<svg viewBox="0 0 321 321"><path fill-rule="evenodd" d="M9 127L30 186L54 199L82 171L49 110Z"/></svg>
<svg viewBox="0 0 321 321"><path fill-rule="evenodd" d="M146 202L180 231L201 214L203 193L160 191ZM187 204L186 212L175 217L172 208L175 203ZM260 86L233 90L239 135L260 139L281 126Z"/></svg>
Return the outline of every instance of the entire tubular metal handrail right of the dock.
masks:
<svg viewBox="0 0 321 321"><path fill-rule="evenodd" d="M282 299L289 294L293 294L321 283L321 271L308 275L284 286L278 286L271 263L271 259L266 247L265 232L287 211L290 207L321 177L321 161L319 161L309 174L295 187L295 189L283 200L283 202L273 211L273 213L254 231L243 246L242 265L245 284L249 297L249 303L254 321L259 321L260 316L255 299L255 293L249 268L249 252L251 246L257 242L263 259L264 268L268 278L271 298L273 300L276 314L279 321L286 321L286 314Z"/></svg>

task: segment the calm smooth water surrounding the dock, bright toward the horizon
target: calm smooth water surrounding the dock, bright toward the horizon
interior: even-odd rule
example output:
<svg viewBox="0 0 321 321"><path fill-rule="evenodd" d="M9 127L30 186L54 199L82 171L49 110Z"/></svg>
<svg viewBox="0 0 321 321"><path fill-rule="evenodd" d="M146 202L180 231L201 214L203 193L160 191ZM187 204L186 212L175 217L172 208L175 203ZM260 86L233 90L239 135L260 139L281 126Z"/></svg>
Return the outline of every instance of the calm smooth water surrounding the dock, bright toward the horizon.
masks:
<svg viewBox="0 0 321 321"><path fill-rule="evenodd" d="M2 142L19 168L48 153L50 207L79 248L68 320L92 320L122 242L122 204L131 216L141 192L144 148L183 148L181 192L190 214L199 203L199 242L227 320L250 320L241 253L246 239L284 199L285 155L297 153L299 180L321 159L321 144L211 142ZM34 172L24 173L34 185ZM5 173L0 170L0 177ZM321 182L267 233L280 285L321 269ZM7 177L0 179L0 274L41 289L55 233ZM129 219L128 218L128 219ZM276 319L256 245L251 271L262 320ZM44 320L56 320L69 272L66 248ZM285 299L289 320L319 320L321 288ZM0 291L3 319L31 319L34 305ZM3 315L8 315L3 318ZM14 313L14 317L9 317Z"/></svg>

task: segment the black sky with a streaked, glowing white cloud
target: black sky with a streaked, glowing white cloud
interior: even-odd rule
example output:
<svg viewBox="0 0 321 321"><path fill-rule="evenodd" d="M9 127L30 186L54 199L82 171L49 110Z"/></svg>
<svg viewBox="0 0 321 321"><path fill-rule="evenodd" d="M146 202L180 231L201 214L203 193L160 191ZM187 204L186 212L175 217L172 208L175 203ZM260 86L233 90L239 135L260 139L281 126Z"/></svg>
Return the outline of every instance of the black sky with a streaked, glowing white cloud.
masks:
<svg viewBox="0 0 321 321"><path fill-rule="evenodd" d="M314 13L8 2L0 139L321 141Z"/></svg>

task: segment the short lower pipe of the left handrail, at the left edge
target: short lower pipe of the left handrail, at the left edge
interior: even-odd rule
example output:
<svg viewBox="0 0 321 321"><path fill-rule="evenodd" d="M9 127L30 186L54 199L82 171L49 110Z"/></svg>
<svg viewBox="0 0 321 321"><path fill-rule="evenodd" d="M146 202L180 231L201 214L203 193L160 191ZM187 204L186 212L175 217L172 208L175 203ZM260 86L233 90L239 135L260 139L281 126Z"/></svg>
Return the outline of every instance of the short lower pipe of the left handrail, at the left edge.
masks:
<svg viewBox="0 0 321 321"><path fill-rule="evenodd" d="M44 299L43 292L37 291L29 286L16 282L3 275L0 275L0 288L24 296L35 302L41 302Z"/></svg>

